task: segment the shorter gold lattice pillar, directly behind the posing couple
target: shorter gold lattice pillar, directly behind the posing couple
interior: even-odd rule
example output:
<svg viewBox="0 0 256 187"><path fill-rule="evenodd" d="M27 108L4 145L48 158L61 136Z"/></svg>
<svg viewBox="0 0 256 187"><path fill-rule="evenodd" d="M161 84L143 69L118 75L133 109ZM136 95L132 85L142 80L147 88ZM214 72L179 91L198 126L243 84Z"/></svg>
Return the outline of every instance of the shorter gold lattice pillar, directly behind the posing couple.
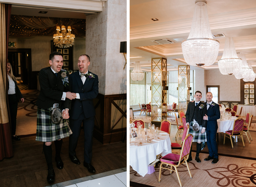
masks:
<svg viewBox="0 0 256 187"><path fill-rule="evenodd" d="M190 66L178 66L178 111L187 111L190 96Z"/></svg>

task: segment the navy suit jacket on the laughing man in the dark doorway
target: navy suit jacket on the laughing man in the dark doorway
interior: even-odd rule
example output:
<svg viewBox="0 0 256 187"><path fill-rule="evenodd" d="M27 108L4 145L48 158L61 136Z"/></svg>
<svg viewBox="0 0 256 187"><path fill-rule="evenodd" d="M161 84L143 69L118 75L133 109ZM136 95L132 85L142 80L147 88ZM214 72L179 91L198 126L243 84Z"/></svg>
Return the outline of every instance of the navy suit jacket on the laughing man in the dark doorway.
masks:
<svg viewBox="0 0 256 187"><path fill-rule="evenodd" d="M88 71L88 73L91 73ZM87 77L84 84L79 75L79 71L70 74L71 92L79 93L80 99L73 99L71 103L71 110L69 116L71 119L78 119L83 107L84 116L90 118L95 116L95 109L93 99L99 93L99 79L98 76L93 74L95 78Z"/></svg>

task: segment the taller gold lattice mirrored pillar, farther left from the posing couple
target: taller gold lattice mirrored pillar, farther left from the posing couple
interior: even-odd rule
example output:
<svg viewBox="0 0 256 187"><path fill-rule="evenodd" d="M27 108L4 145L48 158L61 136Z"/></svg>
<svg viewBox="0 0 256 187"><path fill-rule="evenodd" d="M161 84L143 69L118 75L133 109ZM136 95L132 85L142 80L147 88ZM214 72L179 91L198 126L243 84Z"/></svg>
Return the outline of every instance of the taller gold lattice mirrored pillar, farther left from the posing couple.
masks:
<svg viewBox="0 0 256 187"><path fill-rule="evenodd" d="M162 122L167 115L167 59L152 58L151 72L151 122Z"/></svg>

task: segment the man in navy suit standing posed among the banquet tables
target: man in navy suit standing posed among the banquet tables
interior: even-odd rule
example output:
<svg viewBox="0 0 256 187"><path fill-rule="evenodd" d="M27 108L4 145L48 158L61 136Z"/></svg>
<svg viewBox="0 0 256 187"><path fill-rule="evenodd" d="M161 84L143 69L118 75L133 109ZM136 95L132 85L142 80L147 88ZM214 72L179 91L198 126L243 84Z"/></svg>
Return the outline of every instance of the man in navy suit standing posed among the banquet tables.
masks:
<svg viewBox="0 0 256 187"><path fill-rule="evenodd" d="M204 160L208 161L213 159L212 164L215 164L219 161L216 134L218 129L217 119L221 118L221 113L219 112L219 104L212 101L211 92L206 93L206 100L208 116L205 115L203 119L207 120L206 133L209 156Z"/></svg>

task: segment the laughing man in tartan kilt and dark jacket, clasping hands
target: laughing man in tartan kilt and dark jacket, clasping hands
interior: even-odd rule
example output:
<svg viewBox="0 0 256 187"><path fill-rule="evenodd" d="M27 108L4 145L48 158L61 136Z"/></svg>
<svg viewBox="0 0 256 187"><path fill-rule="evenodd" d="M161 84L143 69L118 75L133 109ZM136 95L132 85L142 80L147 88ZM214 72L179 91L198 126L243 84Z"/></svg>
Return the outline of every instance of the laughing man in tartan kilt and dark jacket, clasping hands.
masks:
<svg viewBox="0 0 256 187"><path fill-rule="evenodd" d="M36 141L44 142L43 152L48 165L47 181L54 181L54 169L52 165L52 142L55 144L55 161L58 169L63 168L60 157L62 138L72 134L69 127L69 108L71 100L76 94L69 92L69 75L63 66L63 54L53 52L49 57L50 67L43 68L39 72L40 93L36 102L37 105L37 133ZM59 116L57 121L51 120L52 111L59 108L62 111L63 119L54 112L53 117ZM54 110L54 111L55 111ZM56 119L56 118L54 118Z"/></svg>

